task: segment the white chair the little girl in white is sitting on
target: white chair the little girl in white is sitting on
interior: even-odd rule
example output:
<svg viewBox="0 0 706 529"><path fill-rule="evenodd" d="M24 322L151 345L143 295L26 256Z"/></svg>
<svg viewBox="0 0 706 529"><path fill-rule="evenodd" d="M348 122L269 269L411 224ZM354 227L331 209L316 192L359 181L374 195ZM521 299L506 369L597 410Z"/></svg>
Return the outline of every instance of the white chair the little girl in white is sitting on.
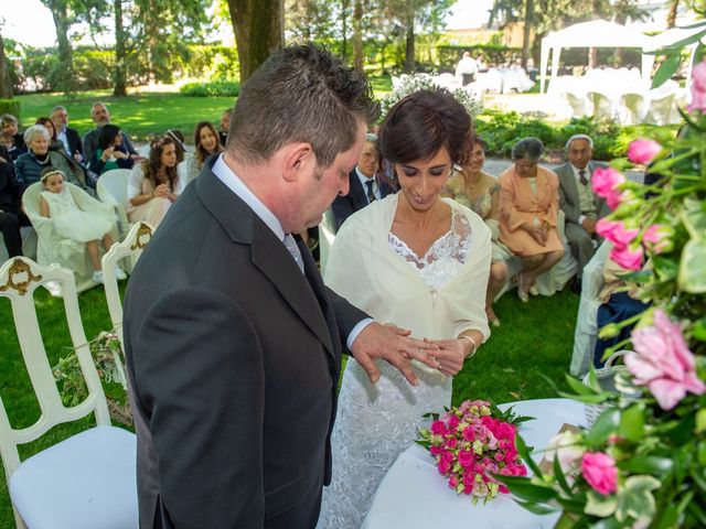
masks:
<svg viewBox="0 0 706 529"><path fill-rule="evenodd" d="M83 209L100 209L105 212L106 208L109 208L108 205L93 198L78 186L72 183L66 183L66 186ZM36 262L39 264L56 262L72 270L76 276L76 290L78 292L94 288L98 283L93 280L94 270L88 251L86 250L86 245L60 236L54 229L54 222L40 214L41 192L42 184L35 182L30 185L22 195L22 204L24 205L26 216L30 218L38 235ZM118 240L116 227L110 231L110 235L113 236L113 240ZM61 284L58 283L45 283L44 288L46 288L52 295L63 295Z"/></svg>

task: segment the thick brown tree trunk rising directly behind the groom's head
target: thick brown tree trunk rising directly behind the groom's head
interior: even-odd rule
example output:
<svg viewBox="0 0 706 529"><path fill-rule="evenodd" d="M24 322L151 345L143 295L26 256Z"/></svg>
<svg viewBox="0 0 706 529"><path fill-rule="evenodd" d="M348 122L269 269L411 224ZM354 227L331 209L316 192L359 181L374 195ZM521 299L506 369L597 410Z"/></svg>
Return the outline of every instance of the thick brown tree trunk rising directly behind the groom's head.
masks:
<svg viewBox="0 0 706 529"><path fill-rule="evenodd" d="M240 84L285 44L284 0L228 0L240 64Z"/></svg>

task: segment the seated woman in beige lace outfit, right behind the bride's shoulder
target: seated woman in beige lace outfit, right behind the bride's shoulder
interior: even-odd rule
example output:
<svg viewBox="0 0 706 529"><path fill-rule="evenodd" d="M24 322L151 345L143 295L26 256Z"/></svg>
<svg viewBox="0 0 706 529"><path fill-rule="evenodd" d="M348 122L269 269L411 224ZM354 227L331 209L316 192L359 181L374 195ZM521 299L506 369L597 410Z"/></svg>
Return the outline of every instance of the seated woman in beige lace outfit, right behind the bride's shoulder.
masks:
<svg viewBox="0 0 706 529"><path fill-rule="evenodd" d="M498 226L500 184L498 179L483 171L488 145L482 138L471 136L469 150L467 163L463 166L454 166L446 194L459 204L473 209L485 222L493 236L490 278L485 293L485 314L488 315L488 323L499 326L500 320L493 311L493 300L505 284L505 279L507 278L507 264L505 264L505 261L511 257L507 248L498 240L500 237L500 228Z"/></svg>

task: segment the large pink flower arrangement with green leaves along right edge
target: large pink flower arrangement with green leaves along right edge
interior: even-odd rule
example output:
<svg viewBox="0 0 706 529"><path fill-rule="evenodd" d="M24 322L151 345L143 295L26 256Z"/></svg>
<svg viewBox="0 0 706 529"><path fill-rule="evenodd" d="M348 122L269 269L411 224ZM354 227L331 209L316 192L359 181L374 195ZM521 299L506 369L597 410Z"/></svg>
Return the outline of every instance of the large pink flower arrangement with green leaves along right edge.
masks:
<svg viewBox="0 0 706 529"><path fill-rule="evenodd" d="M520 450L534 477L499 477L527 508L563 510L564 527L706 527L706 61L693 78L677 137L635 141L628 160L592 179L614 209L597 229L650 304L600 332L634 325L613 347L631 349L619 391L603 390L593 371L587 385L568 378L565 396L607 410L552 441L550 473ZM620 172L631 162L648 166L645 184Z"/></svg>

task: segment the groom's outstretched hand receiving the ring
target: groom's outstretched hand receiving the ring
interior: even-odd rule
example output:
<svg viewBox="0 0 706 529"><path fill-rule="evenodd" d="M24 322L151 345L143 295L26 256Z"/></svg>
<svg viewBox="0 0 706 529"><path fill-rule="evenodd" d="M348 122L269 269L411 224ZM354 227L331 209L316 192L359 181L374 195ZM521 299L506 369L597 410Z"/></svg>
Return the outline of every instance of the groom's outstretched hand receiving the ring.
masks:
<svg viewBox="0 0 706 529"><path fill-rule="evenodd" d="M379 369L374 360L382 358L395 366L413 386L417 385L417 377L411 369L410 359L419 360L435 369L439 363L428 352L434 353L439 347L424 339L411 338L410 331L399 328L393 324L381 325L373 322L357 335L351 347L355 360L365 369L371 382L379 378Z"/></svg>

